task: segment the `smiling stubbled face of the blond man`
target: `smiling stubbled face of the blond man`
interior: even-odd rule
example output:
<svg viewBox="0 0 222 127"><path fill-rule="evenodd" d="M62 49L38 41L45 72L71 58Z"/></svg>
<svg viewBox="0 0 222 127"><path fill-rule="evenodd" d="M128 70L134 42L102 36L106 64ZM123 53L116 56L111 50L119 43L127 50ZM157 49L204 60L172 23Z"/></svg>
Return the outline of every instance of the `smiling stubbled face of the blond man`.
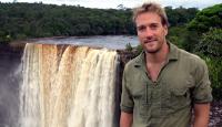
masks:
<svg viewBox="0 0 222 127"><path fill-rule="evenodd" d="M157 53L165 43L168 27L161 23L157 13L144 12L135 19L138 38L147 53Z"/></svg>

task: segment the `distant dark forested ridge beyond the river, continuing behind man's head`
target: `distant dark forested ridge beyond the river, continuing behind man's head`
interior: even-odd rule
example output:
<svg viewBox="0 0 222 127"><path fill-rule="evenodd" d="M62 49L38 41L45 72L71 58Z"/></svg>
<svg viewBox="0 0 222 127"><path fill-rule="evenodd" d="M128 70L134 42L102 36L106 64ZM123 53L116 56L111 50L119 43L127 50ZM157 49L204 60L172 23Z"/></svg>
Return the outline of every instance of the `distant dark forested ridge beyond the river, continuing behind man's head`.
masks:
<svg viewBox="0 0 222 127"><path fill-rule="evenodd" d="M167 8L172 27L184 24L198 9ZM14 39L135 34L131 9L89 9L42 3L0 3L0 42Z"/></svg>

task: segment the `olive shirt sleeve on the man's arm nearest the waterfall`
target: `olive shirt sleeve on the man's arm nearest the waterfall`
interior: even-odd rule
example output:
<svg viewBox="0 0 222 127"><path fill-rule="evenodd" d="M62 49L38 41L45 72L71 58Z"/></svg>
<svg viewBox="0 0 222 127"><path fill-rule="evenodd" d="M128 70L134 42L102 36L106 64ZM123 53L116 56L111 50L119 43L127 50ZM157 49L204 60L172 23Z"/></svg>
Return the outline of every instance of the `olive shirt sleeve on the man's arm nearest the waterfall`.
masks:
<svg viewBox="0 0 222 127"><path fill-rule="evenodd" d="M121 94L121 110L125 113L133 113L133 99L128 87L129 83L125 77L125 70L122 77L122 94Z"/></svg>

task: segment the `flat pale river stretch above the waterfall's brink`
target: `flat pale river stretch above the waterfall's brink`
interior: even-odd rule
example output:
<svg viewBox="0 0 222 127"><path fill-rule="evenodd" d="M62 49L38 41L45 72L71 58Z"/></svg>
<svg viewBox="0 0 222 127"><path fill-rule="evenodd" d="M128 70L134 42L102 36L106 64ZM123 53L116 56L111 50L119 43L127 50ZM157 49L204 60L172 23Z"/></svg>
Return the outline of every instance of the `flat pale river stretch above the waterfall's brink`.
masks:
<svg viewBox="0 0 222 127"><path fill-rule="evenodd" d="M111 50L123 50L129 43L131 46L139 45L138 38L134 35L46 38L40 40L32 40L32 43L85 45L90 47L107 47Z"/></svg>

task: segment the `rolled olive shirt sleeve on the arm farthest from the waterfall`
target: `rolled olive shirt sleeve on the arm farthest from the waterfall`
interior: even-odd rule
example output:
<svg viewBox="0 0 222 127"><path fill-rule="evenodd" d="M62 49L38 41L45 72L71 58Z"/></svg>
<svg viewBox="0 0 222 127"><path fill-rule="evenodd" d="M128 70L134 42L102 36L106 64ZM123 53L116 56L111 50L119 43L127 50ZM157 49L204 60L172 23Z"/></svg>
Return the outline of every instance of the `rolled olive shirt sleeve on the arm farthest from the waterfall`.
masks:
<svg viewBox="0 0 222 127"><path fill-rule="evenodd" d="M212 102L212 88L209 80L208 66L203 60L195 70L195 87L193 91L194 103L210 103Z"/></svg>

